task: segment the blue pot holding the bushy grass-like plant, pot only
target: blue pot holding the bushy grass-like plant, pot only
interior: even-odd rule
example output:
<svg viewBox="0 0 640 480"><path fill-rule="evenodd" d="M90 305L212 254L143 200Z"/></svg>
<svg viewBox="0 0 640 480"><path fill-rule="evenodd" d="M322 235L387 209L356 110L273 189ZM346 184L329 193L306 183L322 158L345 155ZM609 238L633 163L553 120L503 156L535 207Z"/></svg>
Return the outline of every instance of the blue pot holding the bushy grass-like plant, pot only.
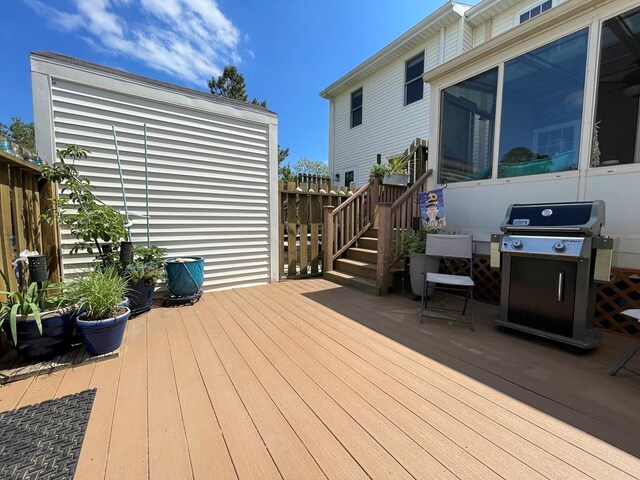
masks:
<svg viewBox="0 0 640 480"><path fill-rule="evenodd" d="M131 310L120 307L123 312L115 318L104 320L82 320L82 315L76 319L76 328L80 333L82 343L91 355L103 355L113 352L122 345L124 329Z"/></svg>

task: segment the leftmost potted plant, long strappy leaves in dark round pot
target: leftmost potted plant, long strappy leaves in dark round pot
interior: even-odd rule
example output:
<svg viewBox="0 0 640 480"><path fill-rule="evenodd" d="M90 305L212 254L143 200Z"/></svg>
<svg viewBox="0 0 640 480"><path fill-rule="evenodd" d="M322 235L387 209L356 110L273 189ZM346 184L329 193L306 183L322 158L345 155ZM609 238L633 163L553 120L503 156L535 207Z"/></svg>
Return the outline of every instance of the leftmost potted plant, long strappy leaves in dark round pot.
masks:
<svg viewBox="0 0 640 480"><path fill-rule="evenodd" d="M26 357L51 357L69 347L72 325L62 308L60 296L47 297L52 287L46 284L22 282L22 286L8 291L5 274L0 276L7 285L7 300L0 306L0 326L20 355Z"/></svg>

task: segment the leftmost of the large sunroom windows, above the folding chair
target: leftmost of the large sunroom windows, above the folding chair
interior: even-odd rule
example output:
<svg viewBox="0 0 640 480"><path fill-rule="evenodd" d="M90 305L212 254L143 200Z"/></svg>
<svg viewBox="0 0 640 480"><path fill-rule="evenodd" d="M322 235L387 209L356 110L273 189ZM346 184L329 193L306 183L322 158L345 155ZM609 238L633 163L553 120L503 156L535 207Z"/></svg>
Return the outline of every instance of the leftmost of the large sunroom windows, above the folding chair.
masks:
<svg viewBox="0 0 640 480"><path fill-rule="evenodd" d="M498 69L442 91L440 183L491 177Z"/></svg>

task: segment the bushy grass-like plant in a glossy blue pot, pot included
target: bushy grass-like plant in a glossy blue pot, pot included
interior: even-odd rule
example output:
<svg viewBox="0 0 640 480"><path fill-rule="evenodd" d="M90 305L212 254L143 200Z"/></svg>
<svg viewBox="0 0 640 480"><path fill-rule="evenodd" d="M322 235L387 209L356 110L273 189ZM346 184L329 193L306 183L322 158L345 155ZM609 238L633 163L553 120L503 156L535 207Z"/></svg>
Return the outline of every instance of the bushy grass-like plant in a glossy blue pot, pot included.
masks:
<svg viewBox="0 0 640 480"><path fill-rule="evenodd" d="M76 328L91 355L112 352L122 344L129 308L120 305L126 280L115 268L96 268L70 282L68 298L81 312Z"/></svg>

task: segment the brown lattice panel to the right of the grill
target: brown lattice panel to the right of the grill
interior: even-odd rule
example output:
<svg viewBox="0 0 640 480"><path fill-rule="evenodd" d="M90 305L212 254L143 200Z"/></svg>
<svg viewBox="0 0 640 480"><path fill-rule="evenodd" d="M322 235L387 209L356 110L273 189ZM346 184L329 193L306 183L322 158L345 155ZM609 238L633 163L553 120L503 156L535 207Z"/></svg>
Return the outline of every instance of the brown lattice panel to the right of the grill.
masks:
<svg viewBox="0 0 640 480"><path fill-rule="evenodd" d="M628 308L640 308L640 271L614 268L612 273L611 282L596 289L594 323L603 330L640 337L638 322L620 313Z"/></svg>

